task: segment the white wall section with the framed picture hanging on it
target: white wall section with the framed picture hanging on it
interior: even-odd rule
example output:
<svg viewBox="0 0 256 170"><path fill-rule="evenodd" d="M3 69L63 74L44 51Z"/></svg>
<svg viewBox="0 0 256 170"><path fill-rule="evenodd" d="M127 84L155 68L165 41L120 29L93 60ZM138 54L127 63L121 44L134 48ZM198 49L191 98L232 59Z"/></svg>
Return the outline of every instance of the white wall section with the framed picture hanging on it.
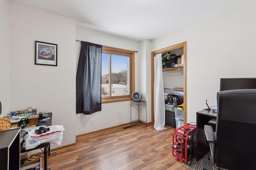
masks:
<svg viewBox="0 0 256 170"><path fill-rule="evenodd" d="M62 145L75 143L75 21L13 2L9 15L10 110L52 112L52 124L66 129ZM58 44L58 66L34 64L35 41Z"/></svg>

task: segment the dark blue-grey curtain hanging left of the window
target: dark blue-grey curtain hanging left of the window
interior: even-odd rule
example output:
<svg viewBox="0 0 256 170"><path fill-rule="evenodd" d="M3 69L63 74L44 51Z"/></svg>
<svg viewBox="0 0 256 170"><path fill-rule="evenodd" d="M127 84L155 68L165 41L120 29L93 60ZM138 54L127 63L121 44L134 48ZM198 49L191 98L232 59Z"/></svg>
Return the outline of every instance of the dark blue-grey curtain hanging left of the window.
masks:
<svg viewBox="0 0 256 170"><path fill-rule="evenodd" d="M76 113L101 111L102 45L81 41L76 72Z"/></svg>

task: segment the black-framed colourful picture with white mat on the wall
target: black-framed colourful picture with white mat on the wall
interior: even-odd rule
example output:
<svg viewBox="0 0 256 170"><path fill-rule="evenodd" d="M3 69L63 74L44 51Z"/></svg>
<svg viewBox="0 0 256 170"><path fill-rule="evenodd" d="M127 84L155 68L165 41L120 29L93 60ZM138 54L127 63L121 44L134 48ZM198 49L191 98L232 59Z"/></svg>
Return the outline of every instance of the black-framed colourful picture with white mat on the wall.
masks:
<svg viewBox="0 0 256 170"><path fill-rule="evenodd" d="M35 64L57 66L57 44L35 41Z"/></svg>

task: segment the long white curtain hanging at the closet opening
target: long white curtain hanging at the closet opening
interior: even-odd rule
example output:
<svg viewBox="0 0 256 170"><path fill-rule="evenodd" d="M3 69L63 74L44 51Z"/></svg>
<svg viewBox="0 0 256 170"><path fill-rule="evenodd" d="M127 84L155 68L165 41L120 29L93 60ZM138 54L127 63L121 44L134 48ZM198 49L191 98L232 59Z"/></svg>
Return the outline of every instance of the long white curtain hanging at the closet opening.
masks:
<svg viewBox="0 0 256 170"><path fill-rule="evenodd" d="M154 128L158 131L166 129L165 125L165 105L164 105L164 85L162 73L162 54L154 57Z"/></svg>

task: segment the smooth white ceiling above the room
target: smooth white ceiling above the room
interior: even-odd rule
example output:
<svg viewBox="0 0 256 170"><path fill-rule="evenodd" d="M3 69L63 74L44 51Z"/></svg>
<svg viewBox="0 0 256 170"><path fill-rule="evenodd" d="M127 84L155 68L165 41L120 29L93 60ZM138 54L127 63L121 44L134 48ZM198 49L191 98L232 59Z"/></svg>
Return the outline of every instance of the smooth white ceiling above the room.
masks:
<svg viewBox="0 0 256 170"><path fill-rule="evenodd" d="M155 39L244 0L10 0L135 41Z"/></svg>

